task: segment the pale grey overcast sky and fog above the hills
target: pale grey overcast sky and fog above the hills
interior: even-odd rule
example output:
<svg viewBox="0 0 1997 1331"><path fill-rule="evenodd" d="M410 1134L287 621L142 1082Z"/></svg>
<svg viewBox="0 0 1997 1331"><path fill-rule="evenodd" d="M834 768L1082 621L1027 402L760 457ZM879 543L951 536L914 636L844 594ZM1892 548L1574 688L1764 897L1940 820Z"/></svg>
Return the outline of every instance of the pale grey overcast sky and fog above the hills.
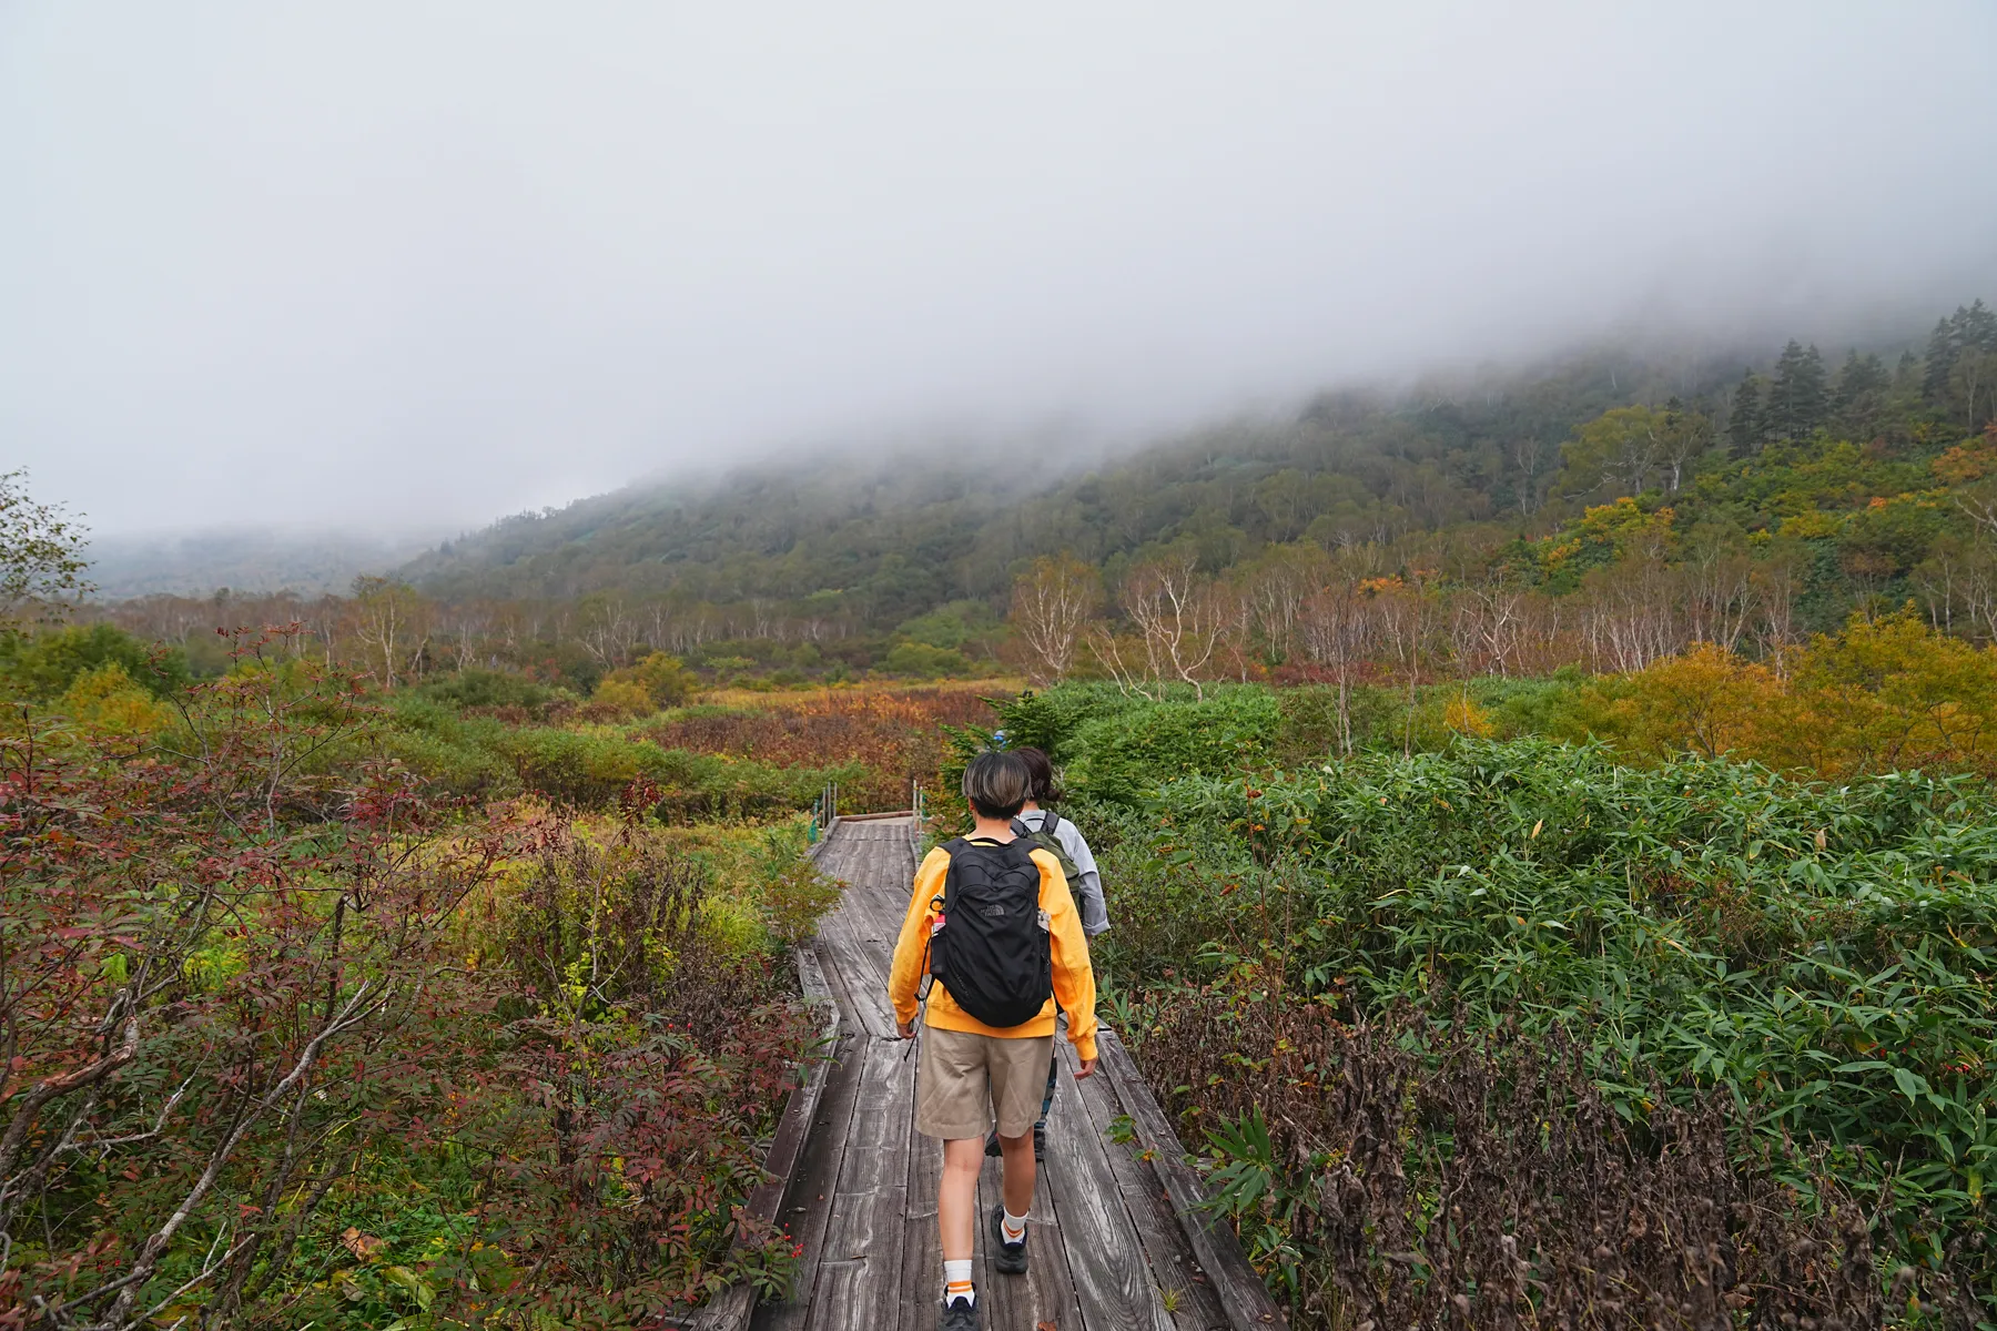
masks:
<svg viewBox="0 0 1997 1331"><path fill-rule="evenodd" d="M1997 4L0 0L0 463L451 529L1997 297Z"/></svg>

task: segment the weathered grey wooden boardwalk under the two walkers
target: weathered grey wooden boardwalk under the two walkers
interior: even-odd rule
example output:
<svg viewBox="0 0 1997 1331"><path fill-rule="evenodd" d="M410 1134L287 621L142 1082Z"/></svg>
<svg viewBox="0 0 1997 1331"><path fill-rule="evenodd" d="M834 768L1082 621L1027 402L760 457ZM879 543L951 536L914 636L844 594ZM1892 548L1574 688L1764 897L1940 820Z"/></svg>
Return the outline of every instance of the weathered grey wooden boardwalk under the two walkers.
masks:
<svg viewBox="0 0 1997 1331"><path fill-rule="evenodd" d="M937 1179L943 1149L915 1133L911 1042L895 1038L889 960L915 874L909 818L839 820L819 852L849 884L815 948L839 1004L839 1040L809 1137L781 1203L803 1243L795 1297L763 1303L767 1331L929 1331L937 1325L943 1255ZM1030 1271L997 1275L979 1225L977 1281L995 1331L1248 1331L1282 1325L1232 1235L1186 1203L1196 1187L1176 1141L1134 1078L1128 1054L1104 1038L1104 1068L1074 1080L1062 1052L1028 1231ZM1114 1064L1114 1066L1112 1066ZM1106 1135L1130 1115L1142 1151ZM979 1181L979 1215L998 1201L998 1161ZM1184 1217L1184 1219L1182 1219ZM1202 1263L1204 1259L1204 1263ZM1252 1287L1250 1287L1252 1285Z"/></svg>

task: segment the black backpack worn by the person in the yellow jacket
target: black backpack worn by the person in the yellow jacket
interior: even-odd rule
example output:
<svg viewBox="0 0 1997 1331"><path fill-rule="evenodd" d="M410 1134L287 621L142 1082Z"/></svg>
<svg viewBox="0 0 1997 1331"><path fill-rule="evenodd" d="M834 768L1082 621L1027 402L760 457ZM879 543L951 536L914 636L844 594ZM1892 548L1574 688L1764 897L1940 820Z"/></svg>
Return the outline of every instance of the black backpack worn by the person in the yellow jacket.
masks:
<svg viewBox="0 0 1997 1331"><path fill-rule="evenodd" d="M1054 996L1054 954L1040 910L1034 842L1002 846L959 836L945 844L943 928L929 938L929 974L985 1026L1022 1026Z"/></svg>

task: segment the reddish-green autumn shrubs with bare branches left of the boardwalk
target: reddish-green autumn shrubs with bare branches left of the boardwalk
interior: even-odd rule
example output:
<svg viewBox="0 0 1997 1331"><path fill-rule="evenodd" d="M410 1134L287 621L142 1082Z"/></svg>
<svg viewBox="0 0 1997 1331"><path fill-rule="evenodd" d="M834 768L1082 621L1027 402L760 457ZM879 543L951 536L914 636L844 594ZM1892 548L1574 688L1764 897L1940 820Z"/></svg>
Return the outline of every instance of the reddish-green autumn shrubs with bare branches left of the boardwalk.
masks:
<svg viewBox="0 0 1997 1331"><path fill-rule="evenodd" d="M152 748L0 738L0 1327L625 1325L779 1281L733 1207L803 1018L699 866L427 800L270 643Z"/></svg>

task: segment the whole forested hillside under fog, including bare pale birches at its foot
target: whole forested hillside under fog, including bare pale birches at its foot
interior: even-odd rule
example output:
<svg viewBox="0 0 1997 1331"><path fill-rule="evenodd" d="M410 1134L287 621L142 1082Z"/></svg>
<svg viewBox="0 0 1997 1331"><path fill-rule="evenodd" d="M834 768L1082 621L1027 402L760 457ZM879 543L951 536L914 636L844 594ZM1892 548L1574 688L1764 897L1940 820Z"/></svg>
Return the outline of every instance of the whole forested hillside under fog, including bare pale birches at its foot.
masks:
<svg viewBox="0 0 1997 1331"><path fill-rule="evenodd" d="M1412 688L1642 670L1695 643L1781 672L1813 633L1909 603L1997 637L1997 315L1737 365L1596 355L1332 393L1066 473L1034 447L821 455L507 519L351 597L92 613L196 672L222 666L218 627L300 623L304 651L377 684L479 666L573 694L653 655L775 688Z"/></svg>

